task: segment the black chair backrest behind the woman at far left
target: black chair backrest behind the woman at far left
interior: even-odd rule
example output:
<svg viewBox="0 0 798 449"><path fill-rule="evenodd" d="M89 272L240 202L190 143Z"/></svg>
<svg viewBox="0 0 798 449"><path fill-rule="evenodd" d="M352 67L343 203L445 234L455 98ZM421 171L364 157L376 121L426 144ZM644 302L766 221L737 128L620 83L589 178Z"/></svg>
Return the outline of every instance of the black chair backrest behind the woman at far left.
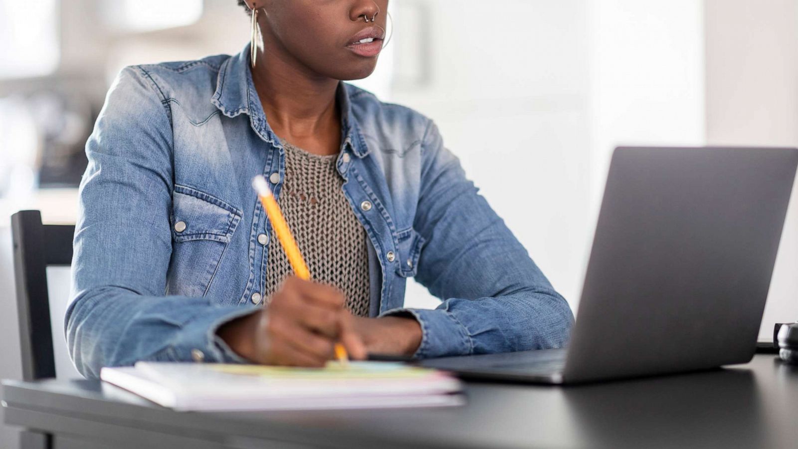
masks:
<svg viewBox="0 0 798 449"><path fill-rule="evenodd" d="M11 216L24 380L56 376L47 267L72 264L74 233L73 225L41 224L38 210L23 210Z"/></svg>

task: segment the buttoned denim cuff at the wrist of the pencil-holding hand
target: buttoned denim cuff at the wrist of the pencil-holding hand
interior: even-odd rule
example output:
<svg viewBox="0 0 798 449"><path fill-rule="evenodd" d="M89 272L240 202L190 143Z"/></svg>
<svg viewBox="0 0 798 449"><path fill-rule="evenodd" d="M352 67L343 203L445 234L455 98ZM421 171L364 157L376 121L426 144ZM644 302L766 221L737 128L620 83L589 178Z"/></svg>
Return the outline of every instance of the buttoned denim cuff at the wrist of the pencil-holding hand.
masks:
<svg viewBox="0 0 798 449"><path fill-rule="evenodd" d="M216 335L216 331L223 324L252 312L255 312L254 308L215 308L197 316L195 320L185 324L180 332L180 339L174 345L176 359L221 364L251 363L236 354L224 340Z"/></svg>

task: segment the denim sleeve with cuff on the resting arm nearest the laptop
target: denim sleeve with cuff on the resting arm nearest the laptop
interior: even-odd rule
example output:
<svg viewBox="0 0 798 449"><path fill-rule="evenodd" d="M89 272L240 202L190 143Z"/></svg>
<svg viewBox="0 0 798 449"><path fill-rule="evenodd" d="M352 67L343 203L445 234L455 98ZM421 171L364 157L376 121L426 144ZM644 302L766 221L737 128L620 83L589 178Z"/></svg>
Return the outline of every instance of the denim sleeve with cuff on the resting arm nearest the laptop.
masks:
<svg viewBox="0 0 798 449"><path fill-rule="evenodd" d="M421 324L418 358L567 344L574 316L429 124L413 227L426 240L416 279L443 302L399 309Z"/></svg>

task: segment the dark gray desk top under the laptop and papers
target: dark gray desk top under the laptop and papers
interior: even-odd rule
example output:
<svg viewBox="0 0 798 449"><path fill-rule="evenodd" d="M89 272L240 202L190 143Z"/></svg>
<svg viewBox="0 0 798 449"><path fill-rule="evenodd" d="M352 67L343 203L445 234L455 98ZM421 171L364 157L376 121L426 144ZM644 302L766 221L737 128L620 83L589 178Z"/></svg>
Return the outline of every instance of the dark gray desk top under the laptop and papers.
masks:
<svg viewBox="0 0 798 449"><path fill-rule="evenodd" d="M93 381L4 384L6 423L57 449L798 447L798 369L740 367L580 387L468 383L468 405L177 413Z"/></svg>

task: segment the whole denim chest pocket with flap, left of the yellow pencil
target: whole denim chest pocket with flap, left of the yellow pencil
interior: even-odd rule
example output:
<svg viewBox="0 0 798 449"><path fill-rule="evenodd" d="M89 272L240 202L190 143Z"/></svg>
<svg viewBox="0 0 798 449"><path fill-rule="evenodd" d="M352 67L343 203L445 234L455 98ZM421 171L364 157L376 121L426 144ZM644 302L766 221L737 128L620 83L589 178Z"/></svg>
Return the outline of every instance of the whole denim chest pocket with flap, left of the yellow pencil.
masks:
<svg viewBox="0 0 798 449"><path fill-rule="evenodd" d="M204 296L242 212L199 190L176 185L172 196L172 260L167 292Z"/></svg>

